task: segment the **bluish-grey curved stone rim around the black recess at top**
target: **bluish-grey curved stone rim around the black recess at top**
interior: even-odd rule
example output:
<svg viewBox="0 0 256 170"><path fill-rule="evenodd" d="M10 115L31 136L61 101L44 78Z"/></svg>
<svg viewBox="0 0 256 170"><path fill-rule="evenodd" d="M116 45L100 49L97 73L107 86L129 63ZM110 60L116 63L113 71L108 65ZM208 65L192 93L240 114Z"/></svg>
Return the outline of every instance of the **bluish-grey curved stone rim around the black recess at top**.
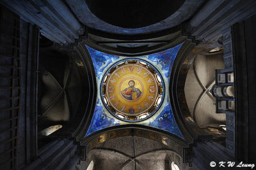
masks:
<svg viewBox="0 0 256 170"><path fill-rule="evenodd" d="M113 32L114 34L146 34L147 32L157 32L168 29L170 27L175 27L176 25L181 24L189 17L191 17L193 13L195 13L195 11L198 9L198 6L201 6L204 3L202 0L186 0L185 3L179 8L179 10L175 11L173 15L170 15L168 18L162 20L161 22L157 22L156 24L148 25L146 27L139 27L138 29L127 29L104 22L104 20L101 20L92 13L88 6L90 4L87 4L86 1L81 2L83 3L81 3L79 6L74 6L70 3L68 4L70 4L70 8L72 8L77 16L82 16L79 15L80 13L87 14L86 17L79 17L79 20L82 22L82 24L98 29L100 31Z"/></svg>

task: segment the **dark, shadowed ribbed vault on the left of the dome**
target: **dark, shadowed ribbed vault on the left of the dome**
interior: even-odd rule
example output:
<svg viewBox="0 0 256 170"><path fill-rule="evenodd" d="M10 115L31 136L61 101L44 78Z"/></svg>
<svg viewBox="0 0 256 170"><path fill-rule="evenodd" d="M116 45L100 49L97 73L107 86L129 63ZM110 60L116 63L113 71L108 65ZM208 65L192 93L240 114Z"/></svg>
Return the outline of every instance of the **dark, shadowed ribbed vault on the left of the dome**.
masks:
<svg viewBox="0 0 256 170"><path fill-rule="evenodd" d="M45 64L52 62L52 64ZM52 65L52 66L51 66ZM54 67L58 66L57 67ZM45 67L47 66L47 67ZM77 68L67 56L42 61L40 76L41 97L39 122L42 127L57 122L68 122L75 116L81 99L81 80ZM54 123L55 122L55 123Z"/></svg>

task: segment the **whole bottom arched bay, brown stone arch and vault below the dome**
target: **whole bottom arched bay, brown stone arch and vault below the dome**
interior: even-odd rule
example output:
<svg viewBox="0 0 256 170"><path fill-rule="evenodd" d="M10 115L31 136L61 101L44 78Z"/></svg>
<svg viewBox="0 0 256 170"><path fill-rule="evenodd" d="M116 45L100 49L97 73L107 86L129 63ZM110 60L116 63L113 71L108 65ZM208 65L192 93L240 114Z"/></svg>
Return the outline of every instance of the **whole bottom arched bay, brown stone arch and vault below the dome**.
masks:
<svg viewBox="0 0 256 170"><path fill-rule="evenodd" d="M138 169L172 169L172 162L180 169L188 166L182 160L187 146L183 139L143 125L104 129L84 138L81 146L86 148L86 159L77 170L88 167L91 160L95 169L134 169L135 164Z"/></svg>

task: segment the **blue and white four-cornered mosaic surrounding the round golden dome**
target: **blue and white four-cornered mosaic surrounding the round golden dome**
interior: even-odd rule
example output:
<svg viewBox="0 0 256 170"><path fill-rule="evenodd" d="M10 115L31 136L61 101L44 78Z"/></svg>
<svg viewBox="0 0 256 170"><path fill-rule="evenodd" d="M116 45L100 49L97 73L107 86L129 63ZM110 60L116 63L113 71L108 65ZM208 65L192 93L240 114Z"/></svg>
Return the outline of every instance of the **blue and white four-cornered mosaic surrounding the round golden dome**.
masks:
<svg viewBox="0 0 256 170"><path fill-rule="evenodd" d="M125 124L140 124L161 129L163 131L175 134L180 138L183 138L173 116L168 88L170 83L170 74L172 71L173 62L177 56L177 53L179 52L180 46L182 46L182 43L168 50L164 50L163 52L133 57L134 59L145 60L153 66L155 66L156 69L161 74L161 76L163 77L164 85L167 87L165 88L166 95L164 96L163 104L161 105L161 108L159 108L159 110L152 117L147 118L146 120L143 120L141 122L124 122L111 115L111 113L109 113L109 111L105 108L104 104L102 103L102 99L100 97L100 90L98 90L97 103L93 113L92 121L85 136L89 136L93 132L100 131L107 127ZM127 59L127 57L99 52L88 46L86 46L86 48L88 49L92 57L92 62L97 77L97 88L100 89L100 83L102 81L102 78L104 77L104 74L108 71L109 67L113 66L113 64L120 60Z"/></svg>

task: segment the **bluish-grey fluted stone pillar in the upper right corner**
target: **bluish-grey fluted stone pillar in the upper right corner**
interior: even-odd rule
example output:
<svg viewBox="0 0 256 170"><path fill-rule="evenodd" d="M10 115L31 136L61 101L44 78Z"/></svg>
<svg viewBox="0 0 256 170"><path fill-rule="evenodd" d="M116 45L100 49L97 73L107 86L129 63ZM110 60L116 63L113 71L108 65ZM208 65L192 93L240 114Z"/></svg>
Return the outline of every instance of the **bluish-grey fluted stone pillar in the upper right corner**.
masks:
<svg viewBox="0 0 256 170"><path fill-rule="evenodd" d="M188 21L184 32L196 40L213 41L222 36L222 31L256 13L256 1L210 0Z"/></svg>

